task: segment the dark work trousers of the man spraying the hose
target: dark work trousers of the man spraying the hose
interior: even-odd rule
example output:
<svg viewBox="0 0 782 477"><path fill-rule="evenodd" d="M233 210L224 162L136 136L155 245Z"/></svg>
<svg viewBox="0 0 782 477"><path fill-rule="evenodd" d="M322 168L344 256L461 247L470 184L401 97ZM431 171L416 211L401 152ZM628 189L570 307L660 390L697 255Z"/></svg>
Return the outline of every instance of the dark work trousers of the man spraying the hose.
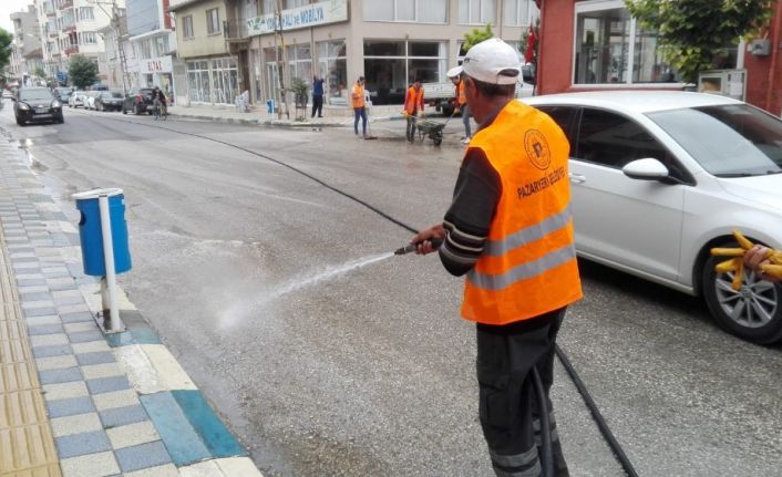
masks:
<svg viewBox="0 0 782 477"><path fill-rule="evenodd" d="M563 308L506 325L476 326L481 426L497 476L537 477L542 473L533 366L546 392L555 475L568 476L548 398L554 382L554 344L564 317Z"/></svg>

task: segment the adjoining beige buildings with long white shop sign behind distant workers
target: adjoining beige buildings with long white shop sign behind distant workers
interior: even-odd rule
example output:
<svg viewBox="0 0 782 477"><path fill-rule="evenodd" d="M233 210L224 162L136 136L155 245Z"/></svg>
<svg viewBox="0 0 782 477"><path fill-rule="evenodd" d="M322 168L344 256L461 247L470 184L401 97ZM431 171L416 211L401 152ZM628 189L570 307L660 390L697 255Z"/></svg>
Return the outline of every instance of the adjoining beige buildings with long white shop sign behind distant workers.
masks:
<svg viewBox="0 0 782 477"><path fill-rule="evenodd" d="M277 7L280 7L278 11ZM534 0L172 0L176 77L188 101L279 101L284 84L326 80L326 104L348 104L358 76L374 104L401 104L410 82L445 81L464 34L492 23L517 46L538 18ZM284 66L285 65L285 66Z"/></svg>

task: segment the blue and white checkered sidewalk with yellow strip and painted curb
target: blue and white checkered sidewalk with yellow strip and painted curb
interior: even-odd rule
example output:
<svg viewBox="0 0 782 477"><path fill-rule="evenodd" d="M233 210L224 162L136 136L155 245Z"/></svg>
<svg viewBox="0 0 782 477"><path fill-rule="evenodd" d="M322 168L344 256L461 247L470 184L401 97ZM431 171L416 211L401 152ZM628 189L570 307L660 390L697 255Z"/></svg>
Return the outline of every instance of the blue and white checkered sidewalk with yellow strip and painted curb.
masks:
<svg viewBox="0 0 782 477"><path fill-rule="evenodd" d="M124 295L103 332L76 220L1 129L0 476L260 476Z"/></svg>

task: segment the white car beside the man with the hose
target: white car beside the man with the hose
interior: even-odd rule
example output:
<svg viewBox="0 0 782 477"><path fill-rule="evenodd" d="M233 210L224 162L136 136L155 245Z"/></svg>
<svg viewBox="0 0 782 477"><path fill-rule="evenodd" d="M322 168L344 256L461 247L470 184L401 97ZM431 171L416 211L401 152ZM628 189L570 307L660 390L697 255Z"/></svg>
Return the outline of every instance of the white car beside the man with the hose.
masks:
<svg viewBox="0 0 782 477"><path fill-rule="evenodd" d="M732 230L782 247L782 122L724 96L589 92L524 100L570 141L578 255L702 297L728 331L782 339L782 284L748 271L740 290L713 247Z"/></svg>

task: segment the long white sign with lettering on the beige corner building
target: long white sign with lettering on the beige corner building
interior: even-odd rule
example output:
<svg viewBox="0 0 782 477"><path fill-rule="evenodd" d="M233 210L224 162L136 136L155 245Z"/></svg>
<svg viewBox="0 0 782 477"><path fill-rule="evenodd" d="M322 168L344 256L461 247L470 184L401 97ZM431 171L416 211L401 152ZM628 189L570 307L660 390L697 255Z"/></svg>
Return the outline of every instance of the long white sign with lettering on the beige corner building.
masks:
<svg viewBox="0 0 782 477"><path fill-rule="evenodd" d="M320 24L348 21L348 0L330 0L306 7L282 10L282 30L296 30ZM280 25L275 14L266 14L247 20L249 35L274 33Z"/></svg>

